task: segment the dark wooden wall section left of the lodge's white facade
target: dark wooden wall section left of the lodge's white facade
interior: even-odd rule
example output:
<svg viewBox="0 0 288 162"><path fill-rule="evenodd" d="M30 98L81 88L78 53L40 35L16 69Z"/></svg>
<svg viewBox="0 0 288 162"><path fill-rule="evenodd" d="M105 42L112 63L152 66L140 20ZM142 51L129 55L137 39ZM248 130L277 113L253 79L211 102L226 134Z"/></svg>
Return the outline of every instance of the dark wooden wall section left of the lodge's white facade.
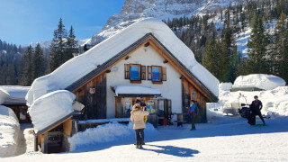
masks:
<svg viewBox="0 0 288 162"><path fill-rule="evenodd" d="M85 119L106 118L106 72L82 85L74 94L85 105Z"/></svg>

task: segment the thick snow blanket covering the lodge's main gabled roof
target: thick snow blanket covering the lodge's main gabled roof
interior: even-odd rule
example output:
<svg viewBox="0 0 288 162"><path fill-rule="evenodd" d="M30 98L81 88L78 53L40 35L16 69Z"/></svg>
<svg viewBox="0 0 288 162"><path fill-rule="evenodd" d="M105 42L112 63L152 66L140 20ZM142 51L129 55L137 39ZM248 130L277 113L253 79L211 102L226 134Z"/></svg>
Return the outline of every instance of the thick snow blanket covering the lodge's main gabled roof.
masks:
<svg viewBox="0 0 288 162"><path fill-rule="evenodd" d="M41 76L34 80L31 89L26 95L28 105L31 105L31 103L43 94L65 89L68 85L72 85L79 78L94 70L98 65L102 65L147 33L152 33L175 58L190 69L193 75L197 77L212 94L218 96L219 80L196 61L192 50L179 40L165 23L157 19L148 18L138 23L133 23L125 30L104 40L84 54L76 58L71 58L51 74Z"/></svg>

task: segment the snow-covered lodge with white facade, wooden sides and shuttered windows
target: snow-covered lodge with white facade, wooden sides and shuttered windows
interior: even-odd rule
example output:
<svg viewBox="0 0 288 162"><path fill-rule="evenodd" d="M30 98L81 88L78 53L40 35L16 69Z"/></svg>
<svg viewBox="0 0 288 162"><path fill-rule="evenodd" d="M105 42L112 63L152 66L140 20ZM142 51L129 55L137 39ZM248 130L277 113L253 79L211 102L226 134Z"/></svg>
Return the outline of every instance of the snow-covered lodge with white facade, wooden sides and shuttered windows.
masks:
<svg viewBox="0 0 288 162"><path fill-rule="evenodd" d="M128 118L132 104L140 100L156 117L151 120L165 124L167 113L185 115L184 107L194 99L200 107L198 121L205 121L206 103L218 100L218 85L219 80L195 60L191 49L165 23L146 19L36 79L27 102L32 105L49 93L67 90L85 105L84 120L91 120ZM60 102L57 108L61 109ZM59 111L58 120L70 113ZM39 127L39 131L47 127L55 128L55 124Z"/></svg>

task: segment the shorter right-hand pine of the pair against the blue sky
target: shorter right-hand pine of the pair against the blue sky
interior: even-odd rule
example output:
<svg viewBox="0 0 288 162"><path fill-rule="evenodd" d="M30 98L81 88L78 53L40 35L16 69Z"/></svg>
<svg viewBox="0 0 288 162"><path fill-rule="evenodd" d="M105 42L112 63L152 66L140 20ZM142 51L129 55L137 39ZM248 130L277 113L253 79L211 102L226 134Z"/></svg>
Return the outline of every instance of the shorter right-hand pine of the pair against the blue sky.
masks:
<svg viewBox="0 0 288 162"><path fill-rule="evenodd" d="M71 26L68 33L69 33L69 35L67 37L67 52L66 52L65 60L73 58L74 54L79 53L78 42L76 40L76 36L75 36L74 29L72 26Z"/></svg>

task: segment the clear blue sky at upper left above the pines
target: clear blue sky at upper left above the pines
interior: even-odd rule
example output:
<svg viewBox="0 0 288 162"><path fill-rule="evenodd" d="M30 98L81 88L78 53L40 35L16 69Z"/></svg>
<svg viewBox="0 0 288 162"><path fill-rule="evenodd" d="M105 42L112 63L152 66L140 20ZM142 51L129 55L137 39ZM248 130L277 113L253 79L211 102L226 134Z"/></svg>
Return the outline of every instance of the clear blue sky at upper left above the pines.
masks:
<svg viewBox="0 0 288 162"><path fill-rule="evenodd" d="M59 18L77 39L101 30L125 0L0 0L0 40L15 44L51 40Z"/></svg>

